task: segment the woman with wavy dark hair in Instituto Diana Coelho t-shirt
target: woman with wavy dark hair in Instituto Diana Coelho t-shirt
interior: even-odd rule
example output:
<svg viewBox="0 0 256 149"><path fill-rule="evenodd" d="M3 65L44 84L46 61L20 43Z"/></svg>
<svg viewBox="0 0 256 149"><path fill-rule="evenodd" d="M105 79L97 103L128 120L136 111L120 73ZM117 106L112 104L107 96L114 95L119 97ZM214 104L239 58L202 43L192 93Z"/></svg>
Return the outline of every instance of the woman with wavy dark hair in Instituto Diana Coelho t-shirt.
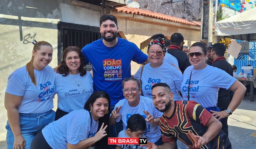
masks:
<svg viewBox="0 0 256 149"><path fill-rule="evenodd" d="M82 109L93 93L92 75L84 67L84 56L78 47L69 46L63 52L62 61L55 75L58 109L55 120Z"/></svg>

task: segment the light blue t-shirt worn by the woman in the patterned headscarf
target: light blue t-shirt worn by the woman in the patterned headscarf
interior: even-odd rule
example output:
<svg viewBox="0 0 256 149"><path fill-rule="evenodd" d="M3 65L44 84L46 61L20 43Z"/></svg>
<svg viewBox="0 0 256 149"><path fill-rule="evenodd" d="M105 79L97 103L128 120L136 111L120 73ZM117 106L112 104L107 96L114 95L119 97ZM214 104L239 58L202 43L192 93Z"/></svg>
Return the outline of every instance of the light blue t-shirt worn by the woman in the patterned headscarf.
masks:
<svg viewBox="0 0 256 149"><path fill-rule="evenodd" d="M140 80L140 72L141 67L133 77ZM182 97L178 93L182 80L183 76L181 72L171 64L163 63L161 66L153 68L148 63L144 66L141 76L143 95L152 98L151 87L156 83L166 83L170 86L174 94L174 101L182 100Z"/></svg>

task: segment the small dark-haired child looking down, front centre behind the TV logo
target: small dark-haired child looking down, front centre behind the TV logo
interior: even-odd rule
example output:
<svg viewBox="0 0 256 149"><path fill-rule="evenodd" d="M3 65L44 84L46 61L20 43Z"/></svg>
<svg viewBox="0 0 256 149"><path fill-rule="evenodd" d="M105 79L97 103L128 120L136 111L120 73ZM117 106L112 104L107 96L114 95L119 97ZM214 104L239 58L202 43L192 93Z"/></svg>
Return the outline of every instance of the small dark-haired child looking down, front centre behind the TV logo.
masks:
<svg viewBox="0 0 256 149"><path fill-rule="evenodd" d="M134 114L127 121L127 130L122 130L118 134L118 138L146 138L144 132L146 130L146 121L143 116ZM146 149L140 145L116 145L116 149Z"/></svg>

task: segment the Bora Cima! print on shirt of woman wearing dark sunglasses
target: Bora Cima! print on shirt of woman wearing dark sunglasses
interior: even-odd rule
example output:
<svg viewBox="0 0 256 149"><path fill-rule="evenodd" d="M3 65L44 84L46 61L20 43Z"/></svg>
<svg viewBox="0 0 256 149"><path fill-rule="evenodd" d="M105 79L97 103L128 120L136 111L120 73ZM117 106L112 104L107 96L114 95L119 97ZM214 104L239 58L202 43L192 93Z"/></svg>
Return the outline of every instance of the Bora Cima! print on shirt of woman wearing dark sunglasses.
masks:
<svg viewBox="0 0 256 149"><path fill-rule="evenodd" d="M182 87L182 91L186 92L185 94L187 94L187 95L185 95L185 98L188 98L188 93L187 93L188 92L188 84L189 84L189 79L187 79L187 81L185 83L186 86ZM199 92L198 84L199 84L199 80L195 80L195 81L194 80L190 80L189 98L198 98L197 96L195 96L196 95L195 92ZM193 93L191 93L191 92L193 92Z"/></svg>

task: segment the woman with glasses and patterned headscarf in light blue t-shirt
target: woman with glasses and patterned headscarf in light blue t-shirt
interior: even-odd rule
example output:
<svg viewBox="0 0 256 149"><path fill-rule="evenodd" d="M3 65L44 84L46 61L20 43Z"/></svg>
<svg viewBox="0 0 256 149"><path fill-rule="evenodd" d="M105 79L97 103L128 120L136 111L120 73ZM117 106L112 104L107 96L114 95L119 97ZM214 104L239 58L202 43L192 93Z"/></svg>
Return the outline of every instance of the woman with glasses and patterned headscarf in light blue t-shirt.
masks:
<svg viewBox="0 0 256 149"><path fill-rule="evenodd" d="M181 72L169 63L164 62L165 40L158 38L148 45L148 60L150 63L141 66L133 76L142 82L142 93L145 97L151 97L151 87L156 83L166 83L170 86L174 100L182 100L180 85L183 80Z"/></svg>

